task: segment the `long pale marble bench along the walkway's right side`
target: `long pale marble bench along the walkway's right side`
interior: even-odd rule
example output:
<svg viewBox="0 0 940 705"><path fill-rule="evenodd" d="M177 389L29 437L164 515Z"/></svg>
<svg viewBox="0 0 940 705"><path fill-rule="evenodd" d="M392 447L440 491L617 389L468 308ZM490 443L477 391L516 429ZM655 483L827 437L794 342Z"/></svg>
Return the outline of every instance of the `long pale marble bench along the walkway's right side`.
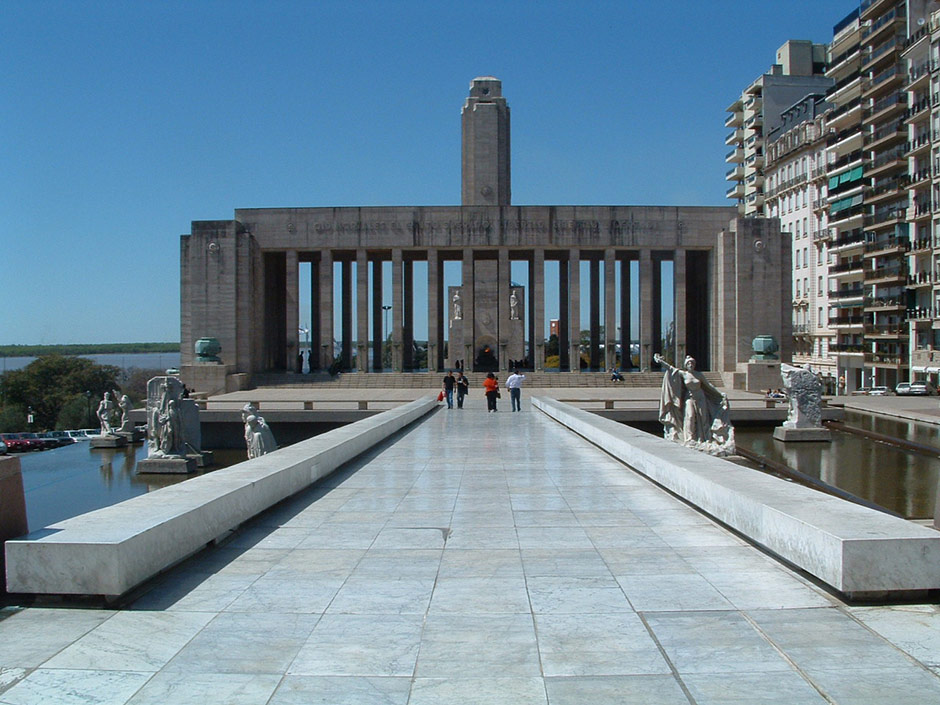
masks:
<svg viewBox="0 0 940 705"><path fill-rule="evenodd" d="M532 404L849 599L940 589L940 532L547 398Z"/></svg>

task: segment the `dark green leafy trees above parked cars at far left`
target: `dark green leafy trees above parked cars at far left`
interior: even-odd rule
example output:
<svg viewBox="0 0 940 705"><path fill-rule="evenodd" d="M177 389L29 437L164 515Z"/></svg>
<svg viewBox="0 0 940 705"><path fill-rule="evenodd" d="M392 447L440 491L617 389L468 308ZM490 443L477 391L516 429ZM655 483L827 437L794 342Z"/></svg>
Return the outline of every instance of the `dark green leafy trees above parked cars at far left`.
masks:
<svg viewBox="0 0 940 705"><path fill-rule="evenodd" d="M91 392L97 405L105 392L117 388L120 370L84 357L45 355L0 378L4 406L32 409L37 428L55 428L59 412L76 395ZM87 404L87 398L86 398Z"/></svg>

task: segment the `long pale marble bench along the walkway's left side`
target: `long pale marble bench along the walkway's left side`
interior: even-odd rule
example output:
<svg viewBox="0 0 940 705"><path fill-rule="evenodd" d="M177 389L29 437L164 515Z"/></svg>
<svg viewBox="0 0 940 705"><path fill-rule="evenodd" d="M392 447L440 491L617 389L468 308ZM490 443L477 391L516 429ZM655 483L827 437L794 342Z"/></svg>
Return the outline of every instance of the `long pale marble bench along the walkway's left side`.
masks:
<svg viewBox="0 0 940 705"><path fill-rule="evenodd" d="M427 396L6 542L7 590L123 595L437 406Z"/></svg>

